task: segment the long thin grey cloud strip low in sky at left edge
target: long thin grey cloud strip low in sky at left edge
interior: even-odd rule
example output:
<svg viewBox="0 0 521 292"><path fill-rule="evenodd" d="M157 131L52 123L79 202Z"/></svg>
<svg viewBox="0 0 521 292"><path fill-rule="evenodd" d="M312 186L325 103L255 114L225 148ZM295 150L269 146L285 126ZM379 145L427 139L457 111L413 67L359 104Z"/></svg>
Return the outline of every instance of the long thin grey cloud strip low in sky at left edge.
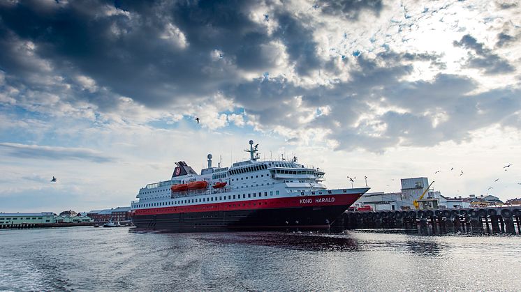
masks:
<svg viewBox="0 0 521 292"><path fill-rule="evenodd" d="M87 148L66 148L16 143L0 143L0 148L3 148L10 156L25 159L86 160L96 163L115 161L113 157L108 157L98 151Z"/></svg>

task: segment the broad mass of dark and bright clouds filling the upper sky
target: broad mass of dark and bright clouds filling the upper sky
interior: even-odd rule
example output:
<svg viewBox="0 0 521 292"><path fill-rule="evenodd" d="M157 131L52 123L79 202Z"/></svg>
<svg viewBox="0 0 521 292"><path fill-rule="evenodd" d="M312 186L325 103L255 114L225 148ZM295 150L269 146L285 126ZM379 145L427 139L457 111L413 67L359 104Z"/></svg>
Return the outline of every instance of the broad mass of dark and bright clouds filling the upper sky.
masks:
<svg viewBox="0 0 521 292"><path fill-rule="evenodd" d="M0 119L10 121L0 134L12 141L13 129L40 121L43 134L15 141L47 144L52 123L71 134L198 116L203 130L253 127L339 149L425 146L420 133L462 141L486 123L518 121L516 34L492 26L480 36L497 40L491 49L467 15L501 13L506 23L517 6L505 3L0 4ZM479 70L462 72L460 56Z"/></svg>

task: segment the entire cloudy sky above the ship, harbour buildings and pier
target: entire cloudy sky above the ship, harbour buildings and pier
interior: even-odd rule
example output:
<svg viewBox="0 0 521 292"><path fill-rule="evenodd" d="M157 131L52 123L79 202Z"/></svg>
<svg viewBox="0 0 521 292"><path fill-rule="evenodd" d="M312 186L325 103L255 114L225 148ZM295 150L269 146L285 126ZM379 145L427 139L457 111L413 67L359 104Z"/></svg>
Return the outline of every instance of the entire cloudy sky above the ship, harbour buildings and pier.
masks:
<svg viewBox="0 0 521 292"><path fill-rule="evenodd" d="M515 0L0 1L0 212L129 206L176 161L246 160L249 139L331 188L426 176L446 197L521 197L519 15Z"/></svg>

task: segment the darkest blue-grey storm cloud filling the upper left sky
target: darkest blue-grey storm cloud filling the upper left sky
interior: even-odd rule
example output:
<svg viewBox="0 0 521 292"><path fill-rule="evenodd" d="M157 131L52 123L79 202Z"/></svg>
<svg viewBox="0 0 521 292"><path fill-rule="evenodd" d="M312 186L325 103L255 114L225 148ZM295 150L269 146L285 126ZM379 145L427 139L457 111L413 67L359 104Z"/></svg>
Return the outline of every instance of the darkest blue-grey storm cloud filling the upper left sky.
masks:
<svg viewBox="0 0 521 292"><path fill-rule="evenodd" d="M21 1L1 9L3 52L11 52L3 54L1 66L8 74L21 76L24 70L9 45L30 40L55 72L87 75L114 93L159 107L183 97L214 94L216 84L235 82L237 66L273 66L269 50L259 49L267 43L266 32L249 19L247 1L119 1L122 10L108 1L71 1L47 9L43 5ZM176 26L177 34L163 37ZM189 49L176 47L181 33ZM223 52L222 60L212 59L216 49Z"/></svg>

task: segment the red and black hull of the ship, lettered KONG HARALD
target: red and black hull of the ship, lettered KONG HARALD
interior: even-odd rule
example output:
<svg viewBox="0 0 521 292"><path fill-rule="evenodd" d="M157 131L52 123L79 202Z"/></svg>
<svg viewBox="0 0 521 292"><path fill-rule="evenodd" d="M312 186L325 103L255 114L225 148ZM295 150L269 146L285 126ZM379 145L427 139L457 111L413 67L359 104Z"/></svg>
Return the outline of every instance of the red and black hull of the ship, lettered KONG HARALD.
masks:
<svg viewBox="0 0 521 292"><path fill-rule="evenodd" d="M228 201L133 210L142 229L174 232L327 230L360 194Z"/></svg>

